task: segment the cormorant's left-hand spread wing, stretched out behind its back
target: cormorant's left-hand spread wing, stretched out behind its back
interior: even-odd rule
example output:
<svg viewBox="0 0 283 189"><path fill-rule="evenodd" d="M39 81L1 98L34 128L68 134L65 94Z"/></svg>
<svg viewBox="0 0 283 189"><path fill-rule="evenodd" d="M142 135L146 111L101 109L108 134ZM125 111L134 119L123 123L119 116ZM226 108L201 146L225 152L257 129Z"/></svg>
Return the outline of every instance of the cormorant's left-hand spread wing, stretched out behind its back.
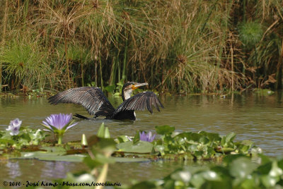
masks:
<svg viewBox="0 0 283 189"><path fill-rule="evenodd" d="M81 104L89 114L94 116L110 116L115 111L112 104L98 87L77 87L59 92L49 99L50 104Z"/></svg>

